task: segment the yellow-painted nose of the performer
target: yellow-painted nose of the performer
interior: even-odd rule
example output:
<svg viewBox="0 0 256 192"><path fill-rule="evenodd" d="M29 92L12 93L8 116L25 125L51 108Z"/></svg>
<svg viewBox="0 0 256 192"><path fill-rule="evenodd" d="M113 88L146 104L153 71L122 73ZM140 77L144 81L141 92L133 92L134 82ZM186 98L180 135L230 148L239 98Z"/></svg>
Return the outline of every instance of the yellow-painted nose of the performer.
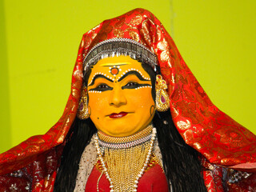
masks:
<svg viewBox="0 0 256 192"><path fill-rule="evenodd" d="M126 100L126 96L123 93L122 88L114 88L113 90L111 90L111 94L110 94L110 106L123 106L126 105L127 100Z"/></svg>

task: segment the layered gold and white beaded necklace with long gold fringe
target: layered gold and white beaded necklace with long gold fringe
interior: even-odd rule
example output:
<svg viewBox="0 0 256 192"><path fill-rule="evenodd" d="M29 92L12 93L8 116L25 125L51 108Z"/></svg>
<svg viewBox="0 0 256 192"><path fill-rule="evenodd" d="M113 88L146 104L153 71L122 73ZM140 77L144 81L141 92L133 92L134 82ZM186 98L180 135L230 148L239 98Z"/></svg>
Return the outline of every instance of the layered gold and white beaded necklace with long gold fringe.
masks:
<svg viewBox="0 0 256 192"><path fill-rule="evenodd" d="M117 138L122 142L116 143L113 137L104 136L106 139L101 140L102 133L98 132L94 140L102 170L110 182L110 192L137 191L138 180L150 162L156 129L148 126L138 134Z"/></svg>

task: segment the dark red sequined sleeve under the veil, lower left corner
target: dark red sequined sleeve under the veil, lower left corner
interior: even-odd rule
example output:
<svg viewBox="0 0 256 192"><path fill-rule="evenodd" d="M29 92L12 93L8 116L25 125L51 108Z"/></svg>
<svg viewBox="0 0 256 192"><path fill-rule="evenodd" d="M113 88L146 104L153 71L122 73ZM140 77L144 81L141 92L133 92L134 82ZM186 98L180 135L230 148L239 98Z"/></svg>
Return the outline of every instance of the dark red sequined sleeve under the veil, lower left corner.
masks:
<svg viewBox="0 0 256 192"><path fill-rule="evenodd" d="M39 154L34 162L21 170L0 175L0 191L53 191L59 163L57 157L54 148Z"/></svg>

